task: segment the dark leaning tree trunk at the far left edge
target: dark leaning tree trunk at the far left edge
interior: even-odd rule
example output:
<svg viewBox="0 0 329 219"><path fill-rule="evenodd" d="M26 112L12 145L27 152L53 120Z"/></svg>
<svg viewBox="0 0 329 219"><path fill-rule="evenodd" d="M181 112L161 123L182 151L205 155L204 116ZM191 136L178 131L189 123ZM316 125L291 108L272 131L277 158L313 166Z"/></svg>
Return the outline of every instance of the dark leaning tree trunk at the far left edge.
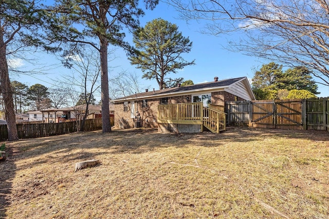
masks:
<svg viewBox="0 0 329 219"><path fill-rule="evenodd" d="M14 141L19 139L16 127L16 116L14 112L14 103L12 98L12 90L9 79L8 64L6 57L6 45L3 38L3 29L0 26L0 92L3 95L5 103L5 114L8 127L8 140Z"/></svg>

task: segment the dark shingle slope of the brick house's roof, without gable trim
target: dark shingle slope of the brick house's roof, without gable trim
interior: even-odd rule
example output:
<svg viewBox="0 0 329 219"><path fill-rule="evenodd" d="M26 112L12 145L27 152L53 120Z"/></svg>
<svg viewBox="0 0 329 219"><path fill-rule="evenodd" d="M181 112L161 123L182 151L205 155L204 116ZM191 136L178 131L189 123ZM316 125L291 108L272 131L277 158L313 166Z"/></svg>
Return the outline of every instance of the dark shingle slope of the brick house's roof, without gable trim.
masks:
<svg viewBox="0 0 329 219"><path fill-rule="evenodd" d="M234 84L235 82L240 81L245 77L237 77L237 78L231 78L231 79L225 79L218 82L207 82L202 84L196 84L196 85L189 85L184 87L174 87L174 88L167 88L162 90L155 90L149 91L149 92L142 92L142 93L136 93L130 96L121 97L118 99L114 99L114 101L120 101L124 99L133 99L133 98L140 98L144 96L157 96L162 94L168 94L168 93L174 93L174 92L184 92L184 91L193 91L193 90L201 90L206 88L215 88L215 87L227 87L231 84Z"/></svg>

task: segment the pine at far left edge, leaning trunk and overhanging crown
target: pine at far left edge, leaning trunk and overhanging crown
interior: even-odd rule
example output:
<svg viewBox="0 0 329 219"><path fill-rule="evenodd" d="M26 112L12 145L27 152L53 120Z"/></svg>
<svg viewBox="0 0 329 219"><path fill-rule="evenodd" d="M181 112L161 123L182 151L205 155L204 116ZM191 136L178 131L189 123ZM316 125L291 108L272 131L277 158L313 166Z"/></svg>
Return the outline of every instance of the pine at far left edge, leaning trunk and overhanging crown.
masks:
<svg viewBox="0 0 329 219"><path fill-rule="evenodd" d="M18 139L8 56L27 46L39 46L44 11L34 0L2 0L0 3L0 93L3 95L8 140Z"/></svg>

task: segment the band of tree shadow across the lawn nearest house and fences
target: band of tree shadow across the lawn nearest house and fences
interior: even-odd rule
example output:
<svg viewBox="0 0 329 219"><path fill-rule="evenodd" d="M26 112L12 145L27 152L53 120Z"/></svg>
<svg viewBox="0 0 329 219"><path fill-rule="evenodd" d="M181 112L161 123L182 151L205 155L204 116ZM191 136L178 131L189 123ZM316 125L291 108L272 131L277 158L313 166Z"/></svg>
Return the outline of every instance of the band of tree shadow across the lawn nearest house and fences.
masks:
<svg viewBox="0 0 329 219"><path fill-rule="evenodd" d="M113 130L110 133L101 131L76 132L65 135L20 140L16 143L20 147L22 156L34 157L49 153L49 158L58 161L77 161L95 157L98 152L90 153L88 149L111 149L111 153L143 153L155 148L196 146L217 147L226 143L243 143L259 141L260 138L285 137L299 138L311 141L328 141L329 133L326 131L299 131L261 128L229 127L220 134L203 133L158 133L157 129L138 128ZM204 142L203 142L204 141ZM81 149L82 152L72 154L72 151ZM53 152L66 153L56 157ZM35 161L42 164L46 161Z"/></svg>

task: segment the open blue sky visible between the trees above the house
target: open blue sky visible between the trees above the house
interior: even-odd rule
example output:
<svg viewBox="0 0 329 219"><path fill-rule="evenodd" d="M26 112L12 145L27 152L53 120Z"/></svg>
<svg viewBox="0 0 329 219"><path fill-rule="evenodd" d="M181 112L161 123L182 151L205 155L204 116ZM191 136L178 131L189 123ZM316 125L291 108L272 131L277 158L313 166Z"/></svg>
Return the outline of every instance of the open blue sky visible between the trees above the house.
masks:
<svg viewBox="0 0 329 219"><path fill-rule="evenodd" d="M155 10L145 11L145 16L140 19L142 26L155 18L165 19L176 24L178 30L182 32L182 35L189 37L190 41L193 42L191 52L184 54L183 57L187 61L195 59L196 65L185 67L183 70L179 71L179 73L169 75L172 78L184 77L185 80L191 79L194 84L211 82L215 76L218 76L220 79L243 76L251 79L254 74L254 69L260 69L263 64L270 62L264 59L261 60L257 57L230 52L223 48L226 46L228 39L231 37L238 38L239 35L213 36L202 34L199 32L199 30L203 28L202 24L195 21L189 21L189 24L187 24L186 21L178 19L178 17L178 13L171 6L160 2ZM131 34L127 34L126 41L132 43ZM109 49L111 49L111 47ZM49 64L60 65L60 62L52 55L46 53L38 55L41 66ZM139 69L136 69L135 66L131 66L122 49L117 49L115 55L117 58L108 63L109 67L116 66L112 72L109 72L110 77L111 74L117 74L122 70L126 70L140 75L139 83L143 85L143 87L149 87L150 89L155 88L158 90L159 86L155 80L150 81L141 78L142 72ZM20 61L17 65L20 65L24 70L38 67L31 66L25 61ZM47 74L45 75L13 75L11 76L11 79L25 83L28 86L39 83L46 87L51 87L54 84L54 79L59 78L62 73L69 73L70 70L59 66L54 69L51 67L51 69L46 72ZM317 81L316 78L315 80ZM318 96L329 96L329 87L327 86L319 85L318 91L321 92ZM100 99L97 95L96 98Z"/></svg>

